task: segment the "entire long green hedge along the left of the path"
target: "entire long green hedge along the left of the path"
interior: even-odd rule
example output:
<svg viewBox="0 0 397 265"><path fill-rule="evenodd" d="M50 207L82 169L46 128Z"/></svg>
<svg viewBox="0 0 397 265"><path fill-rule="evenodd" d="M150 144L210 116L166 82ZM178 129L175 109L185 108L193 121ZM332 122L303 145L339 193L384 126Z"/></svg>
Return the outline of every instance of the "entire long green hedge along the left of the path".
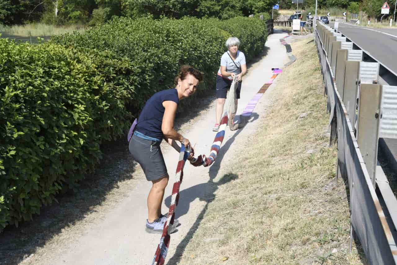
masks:
<svg viewBox="0 0 397 265"><path fill-rule="evenodd" d="M39 45L0 39L0 225L29 220L60 190L76 189L102 141L124 137L181 64L204 72L198 94L213 93L225 40L238 37L249 60L266 32L253 18L119 18Z"/></svg>

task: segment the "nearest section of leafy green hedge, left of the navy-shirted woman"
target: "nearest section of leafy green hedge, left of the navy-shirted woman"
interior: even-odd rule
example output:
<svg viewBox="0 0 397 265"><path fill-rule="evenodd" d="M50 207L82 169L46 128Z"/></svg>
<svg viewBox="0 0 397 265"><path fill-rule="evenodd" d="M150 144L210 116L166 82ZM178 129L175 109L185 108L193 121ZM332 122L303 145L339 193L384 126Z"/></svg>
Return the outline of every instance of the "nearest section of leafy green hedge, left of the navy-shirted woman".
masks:
<svg viewBox="0 0 397 265"><path fill-rule="evenodd" d="M0 224L6 226L29 220L63 187L75 188L94 170L102 140L123 134L131 115L124 83L121 89L116 76L106 82L94 64L104 59L93 59L107 58L102 68L109 76L125 61L53 43L0 39L0 49Z"/></svg>

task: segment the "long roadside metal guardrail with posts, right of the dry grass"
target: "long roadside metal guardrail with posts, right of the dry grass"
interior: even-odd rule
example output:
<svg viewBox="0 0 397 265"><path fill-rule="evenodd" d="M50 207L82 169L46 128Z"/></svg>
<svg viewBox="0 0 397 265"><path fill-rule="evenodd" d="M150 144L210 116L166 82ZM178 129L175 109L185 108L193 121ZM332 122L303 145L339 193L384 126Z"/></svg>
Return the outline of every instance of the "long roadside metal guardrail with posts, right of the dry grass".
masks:
<svg viewBox="0 0 397 265"><path fill-rule="evenodd" d="M377 163L383 126L385 133L396 131L397 87L376 84L382 65L364 51L342 49L334 33L317 22L315 41L328 95L331 144L336 139L338 144L337 177L349 184L351 236L354 231L370 264L397 264L397 200ZM355 60L348 60L349 52ZM361 62L363 55L373 64ZM382 103L383 115L389 117L385 123Z"/></svg>

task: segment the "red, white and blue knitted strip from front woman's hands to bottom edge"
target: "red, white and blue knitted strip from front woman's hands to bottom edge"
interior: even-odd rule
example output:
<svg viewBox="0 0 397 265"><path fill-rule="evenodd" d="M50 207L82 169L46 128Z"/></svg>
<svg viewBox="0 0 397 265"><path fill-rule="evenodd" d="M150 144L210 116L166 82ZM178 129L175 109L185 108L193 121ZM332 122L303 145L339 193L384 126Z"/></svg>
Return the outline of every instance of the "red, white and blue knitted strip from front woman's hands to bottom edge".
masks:
<svg viewBox="0 0 397 265"><path fill-rule="evenodd" d="M170 246L171 239L169 229L172 227L175 219L175 209L179 200L179 188L181 187L183 178L183 167L185 166L186 159L189 157L190 152L190 148L185 148L185 146L182 144L181 151L179 153L179 162L175 173L175 182L172 187L170 210L168 211L167 220L163 228L163 234L161 235L160 244L158 244L156 253L154 254L152 265L163 265L166 259L168 246Z"/></svg>

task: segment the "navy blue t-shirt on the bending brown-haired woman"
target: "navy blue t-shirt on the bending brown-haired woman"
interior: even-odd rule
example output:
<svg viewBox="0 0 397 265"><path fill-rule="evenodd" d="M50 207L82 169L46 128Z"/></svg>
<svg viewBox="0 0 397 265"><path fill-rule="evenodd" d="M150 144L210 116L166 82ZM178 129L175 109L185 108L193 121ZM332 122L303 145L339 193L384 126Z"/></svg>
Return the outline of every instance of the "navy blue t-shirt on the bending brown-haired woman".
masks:
<svg viewBox="0 0 397 265"><path fill-rule="evenodd" d="M146 136L157 138L160 141L163 140L164 135L161 131L161 125L164 111L166 110L163 102L168 100L179 103L178 91L175 88L162 90L152 95L146 101L145 107L143 107L141 115L139 115L135 130Z"/></svg>

